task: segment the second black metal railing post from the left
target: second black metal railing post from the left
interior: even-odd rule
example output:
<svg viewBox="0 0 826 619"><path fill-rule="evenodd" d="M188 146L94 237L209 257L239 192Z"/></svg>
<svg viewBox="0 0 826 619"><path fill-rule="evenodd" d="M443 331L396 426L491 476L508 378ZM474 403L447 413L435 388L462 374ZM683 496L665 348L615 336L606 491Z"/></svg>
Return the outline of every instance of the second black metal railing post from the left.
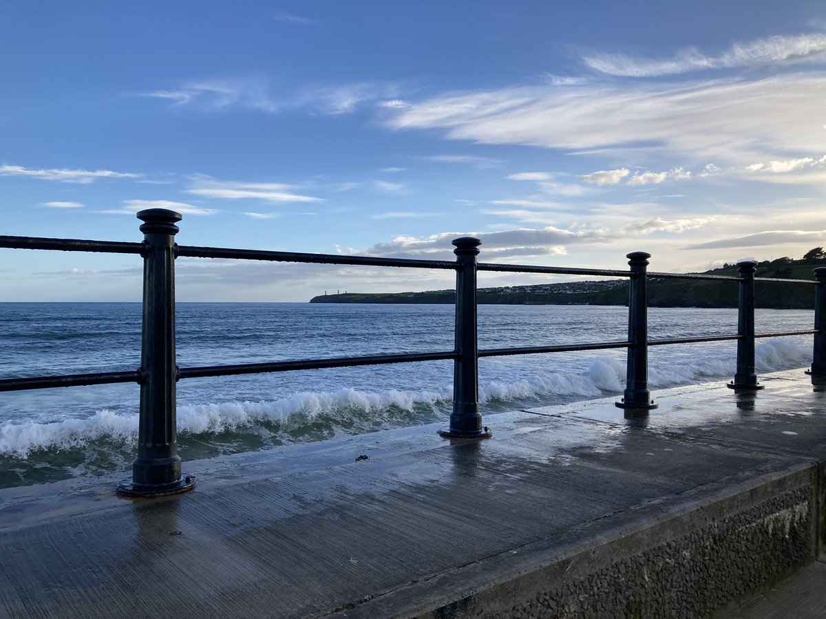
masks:
<svg viewBox="0 0 826 619"><path fill-rule="evenodd" d="M453 239L456 272L456 352L453 361L453 412L450 427L439 430L445 438L488 438L479 413L479 377L476 310L476 257L482 241L473 237Z"/></svg>

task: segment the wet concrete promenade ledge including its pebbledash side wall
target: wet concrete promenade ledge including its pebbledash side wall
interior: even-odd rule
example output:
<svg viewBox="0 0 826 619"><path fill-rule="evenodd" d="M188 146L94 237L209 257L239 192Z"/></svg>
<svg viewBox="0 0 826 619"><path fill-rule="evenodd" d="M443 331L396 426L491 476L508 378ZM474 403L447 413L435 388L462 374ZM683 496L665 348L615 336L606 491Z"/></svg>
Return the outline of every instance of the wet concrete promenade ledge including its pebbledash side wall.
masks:
<svg viewBox="0 0 826 619"><path fill-rule="evenodd" d="M0 617L722 617L824 540L826 390L760 380L0 490Z"/></svg>

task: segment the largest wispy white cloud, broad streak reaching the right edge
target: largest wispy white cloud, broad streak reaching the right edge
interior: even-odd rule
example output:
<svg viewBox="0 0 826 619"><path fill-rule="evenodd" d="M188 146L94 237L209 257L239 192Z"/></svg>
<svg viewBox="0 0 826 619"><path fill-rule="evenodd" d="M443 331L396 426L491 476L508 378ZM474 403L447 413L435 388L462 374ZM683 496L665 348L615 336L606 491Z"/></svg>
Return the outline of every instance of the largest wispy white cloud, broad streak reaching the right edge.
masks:
<svg viewBox="0 0 826 619"><path fill-rule="evenodd" d="M384 120L396 130L442 129L450 139L583 151L616 149L637 164L679 157L744 166L772 153L823 153L826 75L702 83L510 87L411 103ZM596 180L596 177L595 177Z"/></svg>

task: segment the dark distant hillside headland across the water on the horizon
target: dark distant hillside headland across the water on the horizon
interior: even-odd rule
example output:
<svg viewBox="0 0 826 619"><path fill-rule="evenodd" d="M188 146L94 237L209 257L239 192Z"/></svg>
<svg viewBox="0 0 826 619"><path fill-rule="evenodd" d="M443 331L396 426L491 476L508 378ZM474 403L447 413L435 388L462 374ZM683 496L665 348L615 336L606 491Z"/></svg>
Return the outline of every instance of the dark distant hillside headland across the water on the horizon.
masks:
<svg viewBox="0 0 826 619"><path fill-rule="evenodd" d="M823 248L814 248L805 258L777 258L757 264L757 277L777 279L814 278L812 269L826 266ZM710 275L737 276L737 266L706 271ZM774 309L814 308L814 286L755 283L756 305ZM478 302L482 305L627 305L628 280L569 281L533 286L504 286L480 288ZM451 304L455 292L426 291L398 293L358 293L320 295L311 303L435 303ZM651 307L737 307L738 286L727 281L695 281L651 278L648 281L648 305Z"/></svg>

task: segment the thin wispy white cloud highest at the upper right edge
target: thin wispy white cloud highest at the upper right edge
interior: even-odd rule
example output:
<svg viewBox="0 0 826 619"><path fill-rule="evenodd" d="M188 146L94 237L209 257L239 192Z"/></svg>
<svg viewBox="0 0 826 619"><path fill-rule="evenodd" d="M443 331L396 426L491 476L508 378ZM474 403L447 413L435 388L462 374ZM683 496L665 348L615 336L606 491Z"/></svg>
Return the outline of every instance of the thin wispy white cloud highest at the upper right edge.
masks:
<svg viewBox="0 0 826 619"><path fill-rule="evenodd" d="M689 48L671 59L632 58L625 54L590 54L582 62L591 69L619 77L651 78L703 69L736 69L766 64L791 64L826 59L826 35L770 36L735 43L716 56Z"/></svg>

